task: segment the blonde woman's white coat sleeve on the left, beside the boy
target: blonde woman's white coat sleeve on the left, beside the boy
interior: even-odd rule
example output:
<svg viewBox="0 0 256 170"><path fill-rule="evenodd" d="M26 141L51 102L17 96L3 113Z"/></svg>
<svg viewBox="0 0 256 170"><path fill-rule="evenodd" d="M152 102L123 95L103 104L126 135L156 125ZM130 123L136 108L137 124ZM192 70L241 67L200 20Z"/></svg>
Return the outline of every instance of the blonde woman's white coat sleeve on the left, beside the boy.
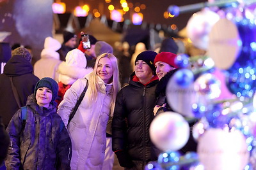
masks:
<svg viewBox="0 0 256 170"><path fill-rule="evenodd" d="M58 106L58 114L67 127L69 115L77 103L77 100L84 90L87 81L84 78L78 79L72 84L64 95L63 101Z"/></svg>

